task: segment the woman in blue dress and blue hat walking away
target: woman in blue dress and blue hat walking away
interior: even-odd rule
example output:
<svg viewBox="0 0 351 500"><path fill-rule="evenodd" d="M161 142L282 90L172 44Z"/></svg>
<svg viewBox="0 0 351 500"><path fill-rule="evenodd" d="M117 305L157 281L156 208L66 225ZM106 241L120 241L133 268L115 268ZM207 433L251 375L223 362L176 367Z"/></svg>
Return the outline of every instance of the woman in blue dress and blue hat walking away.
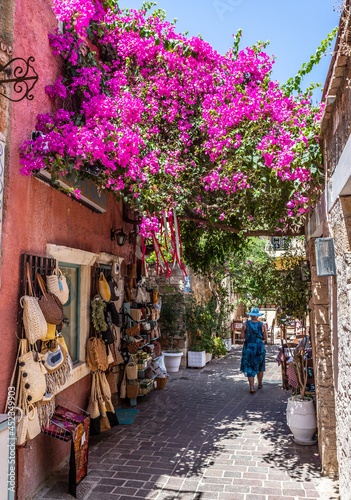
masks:
<svg viewBox="0 0 351 500"><path fill-rule="evenodd" d="M241 356L240 371L245 373L249 379L250 393L255 392L255 375L258 379L258 388L263 384L263 372L265 371L266 349L263 341L267 341L267 330L265 325L258 321L260 314L258 307L253 307L249 312L250 320L244 323L241 330L241 338L245 339L243 353Z"/></svg>

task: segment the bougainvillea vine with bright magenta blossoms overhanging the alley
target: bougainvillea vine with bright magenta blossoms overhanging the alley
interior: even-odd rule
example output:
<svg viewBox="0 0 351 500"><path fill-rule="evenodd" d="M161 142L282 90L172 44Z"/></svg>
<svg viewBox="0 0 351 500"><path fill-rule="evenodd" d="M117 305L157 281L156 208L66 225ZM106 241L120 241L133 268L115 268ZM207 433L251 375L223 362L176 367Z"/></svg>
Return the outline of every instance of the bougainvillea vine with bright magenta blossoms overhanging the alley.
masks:
<svg viewBox="0 0 351 500"><path fill-rule="evenodd" d="M321 184L323 107L271 80L265 44L239 50L238 33L220 55L161 11L113 0L54 0L54 12L64 72L47 93L58 109L22 145L24 175L94 175L144 214L144 236L170 210L239 234L299 233Z"/></svg>

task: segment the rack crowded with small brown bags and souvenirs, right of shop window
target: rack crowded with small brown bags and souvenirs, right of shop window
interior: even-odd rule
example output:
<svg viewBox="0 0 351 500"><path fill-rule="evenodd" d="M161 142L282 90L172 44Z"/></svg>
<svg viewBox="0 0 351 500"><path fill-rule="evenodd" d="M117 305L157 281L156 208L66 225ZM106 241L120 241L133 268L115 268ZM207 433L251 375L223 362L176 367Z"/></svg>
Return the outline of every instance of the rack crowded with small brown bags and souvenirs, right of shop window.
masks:
<svg viewBox="0 0 351 500"><path fill-rule="evenodd" d="M160 338L158 319L161 300L157 291L147 288L147 278L141 276L141 262L138 264L138 267L136 264L128 266L126 276L114 274L113 267L108 265L94 266L92 270L92 301L103 296L107 331L97 332L92 318L91 335L101 336L107 353L110 348L118 350L118 366L109 365L105 374L109 383L111 378L113 381L113 401L119 403L126 397L131 406L136 406L138 397L146 396L155 388L157 377L164 376L158 365L155 365L161 358L160 345L157 343ZM131 271L134 278L131 277ZM109 316L106 311L111 307L114 310ZM117 331L118 340L113 338L111 331ZM129 363L136 365L133 379L127 377L126 366ZM158 373L154 371L155 366ZM113 380L114 377L117 380ZM123 385L127 387L126 394Z"/></svg>

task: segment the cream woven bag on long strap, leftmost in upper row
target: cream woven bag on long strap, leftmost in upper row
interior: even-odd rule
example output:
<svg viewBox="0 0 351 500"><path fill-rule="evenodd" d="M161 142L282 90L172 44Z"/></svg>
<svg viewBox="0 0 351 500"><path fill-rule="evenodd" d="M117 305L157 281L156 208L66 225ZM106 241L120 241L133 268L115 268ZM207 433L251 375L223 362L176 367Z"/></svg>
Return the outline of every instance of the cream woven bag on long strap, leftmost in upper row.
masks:
<svg viewBox="0 0 351 500"><path fill-rule="evenodd" d="M26 263L26 279L28 282L29 295L21 297L20 305L23 308L23 326L26 337L30 344L37 340L45 340L48 327L38 299L33 296L32 280L30 277L29 263Z"/></svg>

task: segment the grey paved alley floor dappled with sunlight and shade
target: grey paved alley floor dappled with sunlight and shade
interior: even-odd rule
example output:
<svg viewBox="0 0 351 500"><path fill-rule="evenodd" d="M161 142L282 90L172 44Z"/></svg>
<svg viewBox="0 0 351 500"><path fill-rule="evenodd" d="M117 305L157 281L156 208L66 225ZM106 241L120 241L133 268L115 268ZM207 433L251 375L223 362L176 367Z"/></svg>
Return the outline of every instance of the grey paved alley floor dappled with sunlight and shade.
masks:
<svg viewBox="0 0 351 500"><path fill-rule="evenodd" d="M263 389L249 394L239 372L241 347L170 377L140 398L132 426L91 440L83 500L336 499L323 478L317 446L298 446L286 425L288 394L280 387L277 348L267 346ZM69 499L68 469L35 497Z"/></svg>

